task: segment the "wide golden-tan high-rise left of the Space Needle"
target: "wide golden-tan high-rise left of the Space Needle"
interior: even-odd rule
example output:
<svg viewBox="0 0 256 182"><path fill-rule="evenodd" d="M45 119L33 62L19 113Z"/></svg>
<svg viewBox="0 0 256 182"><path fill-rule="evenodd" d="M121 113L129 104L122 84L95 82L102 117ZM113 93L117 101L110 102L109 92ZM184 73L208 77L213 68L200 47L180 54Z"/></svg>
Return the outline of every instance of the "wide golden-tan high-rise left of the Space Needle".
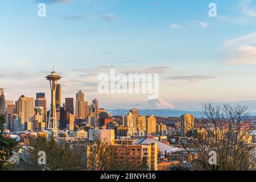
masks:
<svg viewBox="0 0 256 182"><path fill-rule="evenodd" d="M26 122L34 120L34 98L20 96L18 100L18 117L20 130L26 130Z"/></svg>

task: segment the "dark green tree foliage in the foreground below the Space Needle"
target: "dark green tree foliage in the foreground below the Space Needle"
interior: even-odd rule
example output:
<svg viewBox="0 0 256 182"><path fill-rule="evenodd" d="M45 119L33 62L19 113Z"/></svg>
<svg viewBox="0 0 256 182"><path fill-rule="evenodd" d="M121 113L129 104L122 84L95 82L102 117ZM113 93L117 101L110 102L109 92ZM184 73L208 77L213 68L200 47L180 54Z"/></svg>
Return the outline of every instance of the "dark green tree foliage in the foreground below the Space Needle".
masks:
<svg viewBox="0 0 256 182"><path fill-rule="evenodd" d="M81 171L86 168L85 146L82 144L57 143L38 137L30 141L26 158L20 162L20 170ZM46 152L46 165L39 165L39 151Z"/></svg>

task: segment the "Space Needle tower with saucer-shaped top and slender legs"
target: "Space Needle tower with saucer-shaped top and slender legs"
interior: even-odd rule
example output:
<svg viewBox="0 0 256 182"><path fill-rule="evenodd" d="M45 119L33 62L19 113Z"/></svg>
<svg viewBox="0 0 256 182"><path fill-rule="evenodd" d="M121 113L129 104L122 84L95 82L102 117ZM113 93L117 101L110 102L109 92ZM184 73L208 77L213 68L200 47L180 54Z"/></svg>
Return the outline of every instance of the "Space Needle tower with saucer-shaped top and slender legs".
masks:
<svg viewBox="0 0 256 182"><path fill-rule="evenodd" d="M48 75L47 80L50 82L50 88L51 88L51 110L49 115L49 122L48 122L48 138L56 138L58 136L58 128L57 128L57 117L56 117L56 86L57 81L60 80L61 76L57 75L57 73L54 71L51 72L51 75Z"/></svg>

